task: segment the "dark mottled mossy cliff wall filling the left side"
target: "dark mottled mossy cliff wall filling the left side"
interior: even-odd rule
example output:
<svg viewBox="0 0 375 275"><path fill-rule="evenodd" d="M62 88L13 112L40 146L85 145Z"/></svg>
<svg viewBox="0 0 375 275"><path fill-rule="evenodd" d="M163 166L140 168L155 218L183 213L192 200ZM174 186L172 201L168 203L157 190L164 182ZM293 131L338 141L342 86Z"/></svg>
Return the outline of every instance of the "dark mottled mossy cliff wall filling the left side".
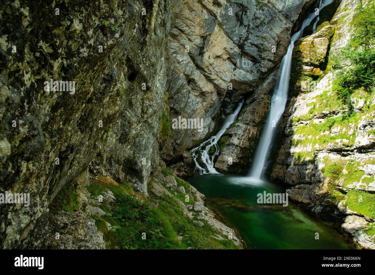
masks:
<svg viewBox="0 0 375 275"><path fill-rule="evenodd" d="M31 198L29 207L0 208L0 242L32 248L57 192L88 166L147 193L169 1L5 1L0 17L1 191ZM50 79L75 81L75 93L45 91Z"/></svg>

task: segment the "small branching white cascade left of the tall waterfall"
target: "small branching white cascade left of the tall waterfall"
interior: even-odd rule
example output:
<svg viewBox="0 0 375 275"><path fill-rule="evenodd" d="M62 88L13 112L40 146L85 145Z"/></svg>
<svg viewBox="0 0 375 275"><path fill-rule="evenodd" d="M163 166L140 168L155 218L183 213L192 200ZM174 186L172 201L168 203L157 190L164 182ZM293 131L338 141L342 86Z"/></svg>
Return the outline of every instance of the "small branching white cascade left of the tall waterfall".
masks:
<svg viewBox="0 0 375 275"><path fill-rule="evenodd" d="M207 173L209 173L209 174L220 174L213 167L213 165L214 165L213 160L215 159L215 157L220 152L219 146L217 145L217 142L220 140L220 137L224 134L225 130L234 122L234 120L236 120L237 115L240 112L242 105L243 105L243 100L238 104L238 106L237 106L236 110L234 110L233 114L229 115L225 119L222 128L220 129L219 132L217 132L216 135L212 136L209 140L204 141L203 143L201 143L201 145L199 145L198 147L196 147L196 148L194 148L190 151L190 152L192 152L192 156L193 156L193 159L194 159L194 162L195 162L194 172L199 172L199 173L202 173L202 174L207 174ZM203 149L204 146L205 146L205 148ZM211 149L212 146L214 146L215 152L210 157L208 152L210 152L210 149ZM201 154L202 162L206 166L205 168L201 167L198 164L198 161L196 161L196 159L199 156L199 153Z"/></svg>

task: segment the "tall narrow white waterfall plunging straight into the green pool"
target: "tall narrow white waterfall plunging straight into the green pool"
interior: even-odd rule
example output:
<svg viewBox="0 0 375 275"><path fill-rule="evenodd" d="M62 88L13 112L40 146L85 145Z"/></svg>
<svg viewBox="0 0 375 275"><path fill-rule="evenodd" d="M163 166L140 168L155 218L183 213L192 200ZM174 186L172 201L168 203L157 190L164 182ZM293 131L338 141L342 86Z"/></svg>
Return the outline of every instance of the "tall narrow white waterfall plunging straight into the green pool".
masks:
<svg viewBox="0 0 375 275"><path fill-rule="evenodd" d="M323 7L331 4L332 2L333 0L321 1L319 10L323 9ZM275 89L271 99L271 107L268 115L268 120L266 125L264 126L263 133L260 138L260 143L258 145L257 151L255 152L253 165L251 171L249 172L249 177L255 180L259 180L262 175L276 125L279 122L282 113L284 113L285 104L287 103L294 42L302 37L303 30L305 29L305 27L311 24L315 16L315 11L313 13L310 13L305 21L303 21L300 30L297 31L297 33L293 34L287 54L285 54L284 58L281 61L279 68L279 77L276 81Z"/></svg>

